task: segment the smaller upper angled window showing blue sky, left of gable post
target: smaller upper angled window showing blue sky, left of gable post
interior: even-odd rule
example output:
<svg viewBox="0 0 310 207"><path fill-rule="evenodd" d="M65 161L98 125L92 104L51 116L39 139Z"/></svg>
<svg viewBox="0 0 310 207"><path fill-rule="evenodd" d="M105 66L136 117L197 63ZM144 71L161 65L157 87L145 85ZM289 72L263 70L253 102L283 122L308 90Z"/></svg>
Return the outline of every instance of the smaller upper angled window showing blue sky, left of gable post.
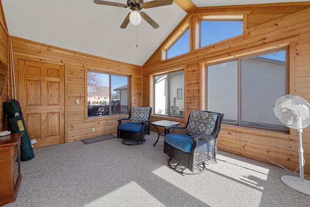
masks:
<svg viewBox="0 0 310 207"><path fill-rule="evenodd" d="M167 49L167 59L189 51L189 29L187 29L172 45Z"/></svg>

